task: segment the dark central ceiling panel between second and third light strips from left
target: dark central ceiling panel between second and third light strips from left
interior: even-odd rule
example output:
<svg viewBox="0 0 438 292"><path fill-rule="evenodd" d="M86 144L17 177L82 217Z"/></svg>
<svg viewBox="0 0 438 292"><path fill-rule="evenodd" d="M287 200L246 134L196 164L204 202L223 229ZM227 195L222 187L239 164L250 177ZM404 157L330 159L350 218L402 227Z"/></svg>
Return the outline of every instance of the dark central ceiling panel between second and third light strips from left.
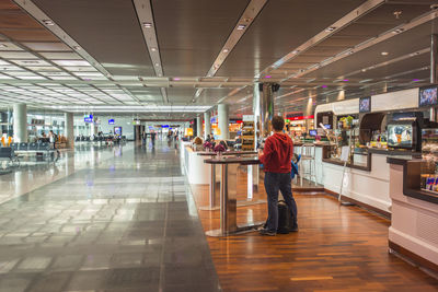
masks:
<svg viewBox="0 0 438 292"><path fill-rule="evenodd" d="M249 0L152 0L164 74L204 77Z"/></svg>

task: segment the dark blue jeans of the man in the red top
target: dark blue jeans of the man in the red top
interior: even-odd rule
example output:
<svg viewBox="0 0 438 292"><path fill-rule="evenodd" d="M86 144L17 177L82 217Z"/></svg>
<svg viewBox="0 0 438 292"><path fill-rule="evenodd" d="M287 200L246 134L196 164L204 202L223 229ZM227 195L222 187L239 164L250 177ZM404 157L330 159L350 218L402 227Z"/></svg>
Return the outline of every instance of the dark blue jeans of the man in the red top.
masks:
<svg viewBox="0 0 438 292"><path fill-rule="evenodd" d="M277 232L278 229L278 190L290 210L293 220L292 227L297 227L297 203L292 196L290 173L265 173L265 190L267 194L267 221L266 229Z"/></svg>

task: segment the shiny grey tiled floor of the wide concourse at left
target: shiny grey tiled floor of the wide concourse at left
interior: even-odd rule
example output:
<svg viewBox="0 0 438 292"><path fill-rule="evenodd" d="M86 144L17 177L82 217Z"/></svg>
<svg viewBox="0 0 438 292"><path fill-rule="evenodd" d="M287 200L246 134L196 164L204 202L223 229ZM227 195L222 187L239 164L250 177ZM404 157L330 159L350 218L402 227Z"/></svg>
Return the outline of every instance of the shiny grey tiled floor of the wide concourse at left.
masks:
<svg viewBox="0 0 438 292"><path fill-rule="evenodd" d="M220 290L173 145L81 144L0 187L0 292Z"/></svg>

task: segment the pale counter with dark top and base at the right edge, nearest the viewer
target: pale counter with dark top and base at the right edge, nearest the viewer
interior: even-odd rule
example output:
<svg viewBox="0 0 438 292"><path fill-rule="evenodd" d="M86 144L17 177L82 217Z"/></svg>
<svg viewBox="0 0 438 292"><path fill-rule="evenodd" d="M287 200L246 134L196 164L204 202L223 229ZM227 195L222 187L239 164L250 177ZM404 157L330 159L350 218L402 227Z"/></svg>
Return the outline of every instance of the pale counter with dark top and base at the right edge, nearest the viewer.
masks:
<svg viewBox="0 0 438 292"><path fill-rule="evenodd" d="M428 162L412 156L388 156L392 219L390 252L438 272L438 195L422 189Z"/></svg>

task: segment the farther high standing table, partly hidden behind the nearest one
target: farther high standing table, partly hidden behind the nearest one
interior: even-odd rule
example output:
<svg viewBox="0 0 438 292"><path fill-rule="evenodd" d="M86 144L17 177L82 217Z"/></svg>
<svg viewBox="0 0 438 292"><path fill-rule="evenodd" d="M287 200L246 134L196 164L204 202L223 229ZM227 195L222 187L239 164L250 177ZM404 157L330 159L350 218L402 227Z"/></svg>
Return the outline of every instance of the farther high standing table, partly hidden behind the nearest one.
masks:
<svg viewBox="0 0 438 292"><path fill-rule="evenodd" d="M217 155L216 152L197 152L198 155L200 156L209 156L210 159L215 157ZM235 155L235 156L242 156L242 155L254 155L257 154L256 151L226 151L222 152L221 155L223 156L229 156L229 155ZM210 164L210 170L211 170L211 175L210 175L210 182L208 184L208 197L209 197L209 206L204 206L200 207L199 209L203 211L210 211L210 210L218 210L219 206L216 205L217 198L219 198L219 182L216 179L216 170L217 165L216 164ZM255 170L255 166L247 167L247 199L251 200L253 198L254 192L258 191L258 172ZM252 203L261 203L261 202L266 202L266 201L257 201L257 202L242 202L238 203L238 207L240 206L249 206ZM244 205L245 203L245 205Z"/></svg>

